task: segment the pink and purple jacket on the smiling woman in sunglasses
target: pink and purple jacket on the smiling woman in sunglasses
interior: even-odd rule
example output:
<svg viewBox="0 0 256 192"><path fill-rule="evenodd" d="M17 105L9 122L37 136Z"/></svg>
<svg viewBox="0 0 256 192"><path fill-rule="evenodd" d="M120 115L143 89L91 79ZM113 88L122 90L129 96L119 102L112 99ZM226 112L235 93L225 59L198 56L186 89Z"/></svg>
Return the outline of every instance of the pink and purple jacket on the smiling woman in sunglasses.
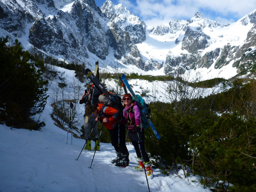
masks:
<svg viewBox="0 0 256 192"><path fill-rule="evenodd" d="M124 120L130 123L130 125L140 125L140 109L136 105L136 101L133 101L128 107L124 107L123 111Z"/></svg>

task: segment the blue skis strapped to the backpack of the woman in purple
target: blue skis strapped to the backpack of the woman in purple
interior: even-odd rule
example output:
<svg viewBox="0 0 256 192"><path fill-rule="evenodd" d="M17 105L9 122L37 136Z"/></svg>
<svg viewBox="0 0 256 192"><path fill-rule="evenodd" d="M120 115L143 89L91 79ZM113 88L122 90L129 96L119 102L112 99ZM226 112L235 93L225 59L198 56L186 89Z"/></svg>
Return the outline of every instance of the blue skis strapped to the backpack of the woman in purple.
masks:
<svg viewBox="0 0 256 192"><path fill-rule="evenodd" d="M129 85L126 77L124 74L122 74L122 80L124 82L124 85L128 88L128 90L130 91L130 93L132 94L132 97L134 98L134 100L136 101L136 103L140 103L138 97L135 95L134 91L132 90L132 87ZM159 133L156 131L156 128L154 127L153 123L150 121L150 116L147 114L147 109L146 109L146 105L142 105L142 108L144 109L144 111L140 110L141 112L141 117L142 117L142 120L145 119L148 124L150 125L152 131L154 132L154 134L156 135L156 138L157 139L160 139L160 135Z"/></svg>

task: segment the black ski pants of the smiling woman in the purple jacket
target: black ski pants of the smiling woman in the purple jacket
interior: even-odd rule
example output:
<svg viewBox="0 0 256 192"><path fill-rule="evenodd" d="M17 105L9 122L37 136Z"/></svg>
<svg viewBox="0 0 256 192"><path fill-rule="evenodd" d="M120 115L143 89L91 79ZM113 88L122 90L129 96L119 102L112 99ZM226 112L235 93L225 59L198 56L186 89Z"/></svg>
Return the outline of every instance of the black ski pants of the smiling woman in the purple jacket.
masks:
<svg viewBox="0 0 256 192"><path fill-rule="evenodd" d="M138 133L139 133L139 137L140 137L140 147L139 147L139 143L138 143L138 141L139 141L138 135L136 132L129 132L129 139L130 139L132 145L134 146L137 157L141 158L141 154L140 154L140 150L141 150L143 160L144 160L144 162L147 163L147 162L149 162L149 158L148 158L148 154L146 153L146 150L145 150L144 129L142 129L141 132L138 132Z"/></svg>

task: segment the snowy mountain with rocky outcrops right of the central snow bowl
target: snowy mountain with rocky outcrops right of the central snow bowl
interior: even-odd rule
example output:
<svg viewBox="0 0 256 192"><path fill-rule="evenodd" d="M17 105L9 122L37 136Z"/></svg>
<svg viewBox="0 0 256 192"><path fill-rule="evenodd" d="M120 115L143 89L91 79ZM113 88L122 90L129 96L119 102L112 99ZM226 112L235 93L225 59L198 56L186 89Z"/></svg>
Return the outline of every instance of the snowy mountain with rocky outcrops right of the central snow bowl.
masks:
<svg viewBox="0 0 256 192"><path fill-rule="evenodd" d="M165 55L166 74L179 66L195 70L201 68L201 71L209 69L210 72L211 69L221 71L229 64L239 73L256 59L255 20L256 10L226 25L208 20L197 12L189 20L175 19L169 24L159 25L149 31L149 36L169 42L170 49ZM147 58L150 60L152 56Z"/></svg>

